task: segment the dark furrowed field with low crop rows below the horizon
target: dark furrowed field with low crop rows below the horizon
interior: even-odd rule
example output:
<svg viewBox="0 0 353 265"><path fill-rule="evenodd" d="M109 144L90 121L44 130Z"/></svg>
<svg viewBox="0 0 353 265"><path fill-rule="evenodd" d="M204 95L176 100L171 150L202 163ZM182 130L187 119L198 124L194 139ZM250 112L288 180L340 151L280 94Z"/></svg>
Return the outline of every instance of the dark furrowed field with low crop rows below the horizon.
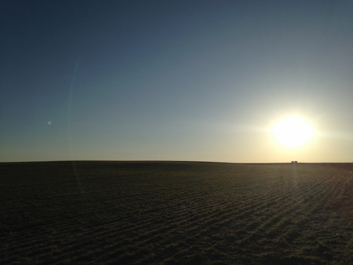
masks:
<svg viewBox="0 0 353 265"><path fill-rule="evenodd" d="M0 264L353 264L352 171L0 163Z"/></svg>

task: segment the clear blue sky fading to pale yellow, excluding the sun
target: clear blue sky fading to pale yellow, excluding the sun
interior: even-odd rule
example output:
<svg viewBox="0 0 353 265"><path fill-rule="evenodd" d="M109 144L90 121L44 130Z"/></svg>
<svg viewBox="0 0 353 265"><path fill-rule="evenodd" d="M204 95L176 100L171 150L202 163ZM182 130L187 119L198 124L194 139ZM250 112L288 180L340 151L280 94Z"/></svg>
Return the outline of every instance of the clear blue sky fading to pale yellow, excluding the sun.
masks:
<svg viewBox="0 0 353 265"><path fill-rule="evenodd" d="M353 161L351 1L0 2L0 162ZM313 135L278 142L300 117Z"/></svg>

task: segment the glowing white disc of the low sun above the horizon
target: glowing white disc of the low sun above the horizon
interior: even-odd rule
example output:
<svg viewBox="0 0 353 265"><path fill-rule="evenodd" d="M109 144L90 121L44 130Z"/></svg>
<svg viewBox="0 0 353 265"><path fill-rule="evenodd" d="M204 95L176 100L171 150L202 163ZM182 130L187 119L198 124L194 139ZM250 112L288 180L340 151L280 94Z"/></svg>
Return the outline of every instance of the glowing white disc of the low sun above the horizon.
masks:
<svg viewBox="0 0 353 265"><path fill-rule="evenodd" d="M301 146L310 140L313 131L301 118L289 117L275 125L273 132L279 142L286 146Z"/></svg>

